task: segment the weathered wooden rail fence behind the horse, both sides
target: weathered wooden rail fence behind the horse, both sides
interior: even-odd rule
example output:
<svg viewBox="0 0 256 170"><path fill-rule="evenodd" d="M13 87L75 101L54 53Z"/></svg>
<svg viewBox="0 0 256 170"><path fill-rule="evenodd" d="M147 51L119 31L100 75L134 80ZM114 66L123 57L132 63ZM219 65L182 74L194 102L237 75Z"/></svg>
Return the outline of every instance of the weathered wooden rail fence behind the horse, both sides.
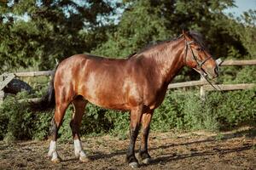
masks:
<svg viewBox="0 0 256 170"><path fill-rule="evenodd" d="M225 60L219 61L219 66L234 66L234 65L256 65L256 59L250 60ZM0 75L0 103L3 101L4 92L3 88L8 85L8 83L15 77L39 77L39 76L50 76L52 71L30 71L30 72L15 72L15 73L3 73ZM201 98L204 99L207 91L215 90L211 85L208 84L204 78L201 78L198 81L189 81L189 82L177 82L169 84L168 88L187 88L201 86L200 93ZM249 89L253 88L255 84L253 83L241 83L241 84L216 84L213 85L220 90L239 90L239 89Z"/></svg>

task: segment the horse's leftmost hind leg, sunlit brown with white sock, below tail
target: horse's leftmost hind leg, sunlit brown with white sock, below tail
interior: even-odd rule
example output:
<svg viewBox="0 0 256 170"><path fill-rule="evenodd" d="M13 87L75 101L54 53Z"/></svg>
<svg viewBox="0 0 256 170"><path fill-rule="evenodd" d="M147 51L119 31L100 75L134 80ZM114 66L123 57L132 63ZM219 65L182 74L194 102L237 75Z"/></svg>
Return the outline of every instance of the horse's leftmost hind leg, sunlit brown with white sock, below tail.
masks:
<svg viewBox="0 0 256 170"><path fill-rule="evenodd" d="M69 105L68 102L56 102L55 106L55 116L52 120L52 139L49 144L49 152L48 156L51 156L51 161L57 163L61 161L61 158L58 156L57 153L57 146L56 141L58 138L58 131L61 127L63 117L67 110L67 106Z"/></svg>

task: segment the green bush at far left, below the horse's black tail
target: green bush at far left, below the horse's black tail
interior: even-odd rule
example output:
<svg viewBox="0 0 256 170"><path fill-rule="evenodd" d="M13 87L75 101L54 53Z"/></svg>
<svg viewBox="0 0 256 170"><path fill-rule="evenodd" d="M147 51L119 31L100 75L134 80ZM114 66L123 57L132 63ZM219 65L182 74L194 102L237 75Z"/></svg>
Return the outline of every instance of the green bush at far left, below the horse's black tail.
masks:
<svg viewBox="0 0 256 170"><path fill-rule="evenodd" d="M0 139L44 139L48 135L50 114L32 113L26 93L8 96L0 107Z"/></svg>

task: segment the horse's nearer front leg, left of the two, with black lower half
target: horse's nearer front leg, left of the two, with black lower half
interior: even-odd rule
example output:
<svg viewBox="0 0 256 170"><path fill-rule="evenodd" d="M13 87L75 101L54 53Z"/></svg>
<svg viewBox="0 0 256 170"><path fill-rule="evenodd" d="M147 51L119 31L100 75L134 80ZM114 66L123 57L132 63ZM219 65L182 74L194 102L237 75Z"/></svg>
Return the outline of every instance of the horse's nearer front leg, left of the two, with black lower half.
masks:
<svg viewBox="0 0 256 170"><path fill-rule="evenodd" d="M142 118L143 106L131 110L130 113L130 145L126 153L126 161L131 167L138 167L138 161L135 156L134 148L139 131L140 121Z"/></svg>

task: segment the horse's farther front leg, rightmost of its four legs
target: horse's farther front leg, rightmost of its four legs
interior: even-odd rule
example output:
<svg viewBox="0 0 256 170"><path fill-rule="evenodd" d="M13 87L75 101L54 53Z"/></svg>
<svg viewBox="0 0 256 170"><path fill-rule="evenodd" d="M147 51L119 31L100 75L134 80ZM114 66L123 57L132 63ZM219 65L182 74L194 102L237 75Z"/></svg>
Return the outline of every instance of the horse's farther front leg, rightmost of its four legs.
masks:
<svg viewBox="0 0 256 170"><path fill-rule="evenodd" d="M148 133L150 128L150 122L154 111L148 111L143 113L142 116L142 143L139 150L139 157L144 164L148 164L151 161L151 156L148 154Z"/></svg>

